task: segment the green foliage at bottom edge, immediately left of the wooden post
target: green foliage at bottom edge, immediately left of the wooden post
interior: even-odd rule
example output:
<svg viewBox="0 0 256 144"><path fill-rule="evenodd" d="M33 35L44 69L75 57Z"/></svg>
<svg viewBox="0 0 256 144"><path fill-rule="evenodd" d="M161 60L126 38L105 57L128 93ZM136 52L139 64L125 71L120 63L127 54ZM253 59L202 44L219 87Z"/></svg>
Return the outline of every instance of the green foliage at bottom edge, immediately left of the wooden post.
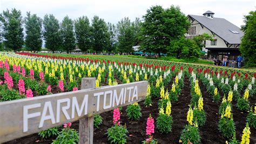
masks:
<svg viewBox="0 0 256 144"><path fill-rule="evenodd" d="M78 143L79 135L78 132L75 129L71 128L63 128L61 132L59 132L59 135L57 136L56 140L53 140L53 144L57 143Z"/></svg>

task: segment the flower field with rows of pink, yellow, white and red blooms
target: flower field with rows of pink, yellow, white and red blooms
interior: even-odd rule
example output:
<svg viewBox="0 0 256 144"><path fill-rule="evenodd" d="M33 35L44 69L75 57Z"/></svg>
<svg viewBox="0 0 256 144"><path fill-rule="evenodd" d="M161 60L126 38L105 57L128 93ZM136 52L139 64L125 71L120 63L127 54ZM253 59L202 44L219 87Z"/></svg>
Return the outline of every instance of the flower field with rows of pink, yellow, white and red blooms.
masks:
<svg viewBox="0 0 256 144"><path fill-rule="evenodd" d="M0 101L77 91L84 77L96 77L96 87L149 81L144 101L95 115L93 143L256 143L256 72L114 56L0 55ZM6 143L77 143L78 127Z"/></svg>

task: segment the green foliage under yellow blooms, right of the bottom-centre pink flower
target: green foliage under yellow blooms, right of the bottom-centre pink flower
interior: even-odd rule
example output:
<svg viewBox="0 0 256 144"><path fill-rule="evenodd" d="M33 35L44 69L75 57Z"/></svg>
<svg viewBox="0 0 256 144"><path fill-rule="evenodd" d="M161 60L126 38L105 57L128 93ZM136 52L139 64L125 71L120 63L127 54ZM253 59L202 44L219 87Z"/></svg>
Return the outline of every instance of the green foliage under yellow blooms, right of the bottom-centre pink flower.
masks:
<svg viewBox="0 0 256 144"><path fill-rule="evenodd" d="M159 114L157 117L157 128L160 133L172 132L172 116L167 114Z"/></svg>

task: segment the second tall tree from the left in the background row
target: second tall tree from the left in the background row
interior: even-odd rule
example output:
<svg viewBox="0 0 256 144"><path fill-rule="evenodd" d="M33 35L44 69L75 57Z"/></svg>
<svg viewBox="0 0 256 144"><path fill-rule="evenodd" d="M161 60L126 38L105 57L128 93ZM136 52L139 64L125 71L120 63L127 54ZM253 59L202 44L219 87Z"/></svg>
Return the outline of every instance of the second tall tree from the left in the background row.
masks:
<svg viewBox="0 0 256 144"><path fill-rule="evenodd" d="M30 51L40 51L42 48L42 19L36 14L26 12L25 18L26 37L25 45Z"/></svg>

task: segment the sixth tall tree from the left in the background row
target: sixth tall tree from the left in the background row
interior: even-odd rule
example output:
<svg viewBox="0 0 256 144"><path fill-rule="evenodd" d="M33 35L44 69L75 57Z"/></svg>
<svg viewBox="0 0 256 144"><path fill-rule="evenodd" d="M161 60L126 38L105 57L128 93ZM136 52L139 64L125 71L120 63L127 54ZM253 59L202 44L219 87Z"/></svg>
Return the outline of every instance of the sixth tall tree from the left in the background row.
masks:
<svg viewBox="0 0 256 144"><path fill-rule="evenodd" d="M94 16L92 19L92 49L98 53L109 46L109 33L104 19Z"/></svg>

